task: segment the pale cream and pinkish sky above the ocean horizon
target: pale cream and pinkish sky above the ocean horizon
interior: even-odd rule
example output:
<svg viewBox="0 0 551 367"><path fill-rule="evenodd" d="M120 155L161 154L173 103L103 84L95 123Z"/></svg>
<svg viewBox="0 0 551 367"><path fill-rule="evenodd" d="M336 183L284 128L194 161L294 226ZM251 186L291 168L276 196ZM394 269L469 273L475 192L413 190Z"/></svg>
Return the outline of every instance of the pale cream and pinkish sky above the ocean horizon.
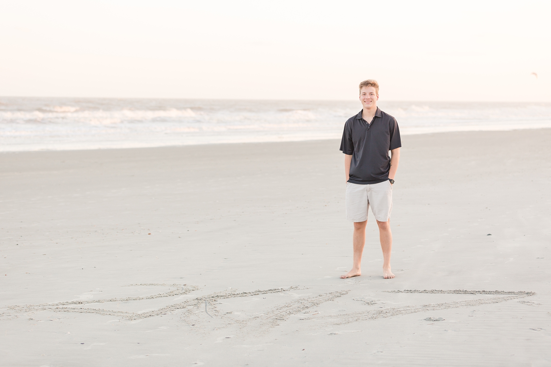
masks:
<svg viewBox="0 0 551 367"><path fill-rule="evenodd" d="M551 2L3 1L0 95L551 101ZM532 72L538 74L531 75Z"/></svg>

